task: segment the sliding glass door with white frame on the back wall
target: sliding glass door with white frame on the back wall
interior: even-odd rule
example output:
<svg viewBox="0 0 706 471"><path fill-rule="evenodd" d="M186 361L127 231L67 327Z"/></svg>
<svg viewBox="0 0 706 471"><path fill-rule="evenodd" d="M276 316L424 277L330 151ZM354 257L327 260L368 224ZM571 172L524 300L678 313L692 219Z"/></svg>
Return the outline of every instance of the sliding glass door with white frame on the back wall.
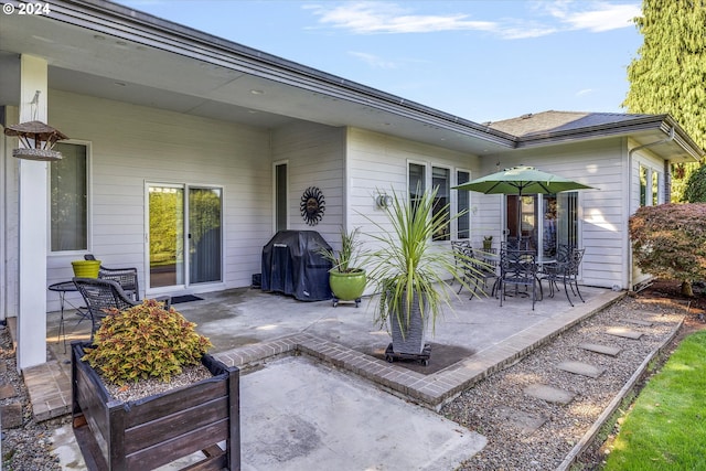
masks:
<svg viewBox="0 0 706 471"><path fill-rule="evenodd" d="M218 188L148 184L149 288L222 280Z"/></svg>

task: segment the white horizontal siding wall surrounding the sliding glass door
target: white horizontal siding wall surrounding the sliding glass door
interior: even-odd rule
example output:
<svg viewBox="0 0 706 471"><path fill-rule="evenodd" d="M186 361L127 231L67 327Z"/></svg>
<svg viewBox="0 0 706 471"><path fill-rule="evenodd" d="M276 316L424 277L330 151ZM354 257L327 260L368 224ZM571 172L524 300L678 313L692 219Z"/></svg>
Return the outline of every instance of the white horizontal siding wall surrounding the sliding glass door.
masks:
<svg viewBox="0 0 706 471"><path fill-rule="evenodd" d="M260 271L271 235L269 132L126 103L51 90L50 122L90 143L89 250L106 266L135 266L145 287L146 182L223 188L224 282ZM71 260L50 255L47 281L71 279ZM50 309L57 309L50 295Z"/></svg>

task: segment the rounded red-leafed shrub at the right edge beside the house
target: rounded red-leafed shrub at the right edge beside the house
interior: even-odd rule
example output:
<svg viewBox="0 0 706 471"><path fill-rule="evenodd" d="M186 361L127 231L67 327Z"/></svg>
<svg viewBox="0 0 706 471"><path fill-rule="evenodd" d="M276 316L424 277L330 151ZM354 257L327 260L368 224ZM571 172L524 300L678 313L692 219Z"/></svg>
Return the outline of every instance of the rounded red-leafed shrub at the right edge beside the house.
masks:
<svg viewBox="0 0 706 471"><path fill-rule="evenodd" d="M630 238L638 267L682 281L683 295L706 279L706 204L643 206L630 217Z"/></svg>

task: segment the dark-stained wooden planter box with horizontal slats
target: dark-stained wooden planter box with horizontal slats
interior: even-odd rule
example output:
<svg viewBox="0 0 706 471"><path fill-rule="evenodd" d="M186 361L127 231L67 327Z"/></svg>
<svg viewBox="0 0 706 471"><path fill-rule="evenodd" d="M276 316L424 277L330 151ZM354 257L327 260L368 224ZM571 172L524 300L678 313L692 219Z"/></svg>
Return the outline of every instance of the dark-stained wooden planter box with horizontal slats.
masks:
<svg viewBox="0 0 706 471"><path fill-rule="evenodd" d="M136 402L110 399L86 362L86 342L72 343L73 426L90 470L148 470L195 451L199 470L240 469L239 371L211 355L214 375ZM225 450L218 442L226 443Z"/></svg>

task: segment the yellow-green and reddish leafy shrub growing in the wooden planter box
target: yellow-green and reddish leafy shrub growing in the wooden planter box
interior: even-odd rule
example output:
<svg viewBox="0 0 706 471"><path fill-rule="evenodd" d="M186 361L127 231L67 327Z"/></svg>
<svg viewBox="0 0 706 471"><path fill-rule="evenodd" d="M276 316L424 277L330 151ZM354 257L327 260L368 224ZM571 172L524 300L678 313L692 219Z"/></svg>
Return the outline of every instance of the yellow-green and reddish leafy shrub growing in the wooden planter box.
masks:
<svg viewBox="0 0 706 471"><path fill-rule="evenodd" d="M82 361L110 383L124 385L151 377L169 382L182 366L197 365L212 347L193 322L173 308L146 300L126 311L113 309L96 331L94 345Z"/></svg>

